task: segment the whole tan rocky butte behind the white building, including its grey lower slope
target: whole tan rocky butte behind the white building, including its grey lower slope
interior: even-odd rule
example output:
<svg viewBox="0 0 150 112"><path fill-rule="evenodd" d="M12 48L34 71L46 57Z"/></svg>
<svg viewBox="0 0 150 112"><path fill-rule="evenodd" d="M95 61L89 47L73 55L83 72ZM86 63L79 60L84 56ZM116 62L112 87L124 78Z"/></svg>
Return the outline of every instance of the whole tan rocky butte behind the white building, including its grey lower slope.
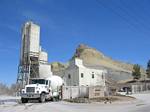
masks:
<svg viewBox="0 0 150 112"><path fill-rule="evenodd" d="M109 77L117 82L132 80L133 64L113 60L95 48L80 44L76 48L76 51L71 60L75 57L82 59L86 66L94 66L97 68L103 67L107 69ZM68 62L66 64L62 64L60 62L52 63L52 71L55 73L64 70L68 66ZM143 78L145 75L145 70L142 67L141 74Z"/></svg>

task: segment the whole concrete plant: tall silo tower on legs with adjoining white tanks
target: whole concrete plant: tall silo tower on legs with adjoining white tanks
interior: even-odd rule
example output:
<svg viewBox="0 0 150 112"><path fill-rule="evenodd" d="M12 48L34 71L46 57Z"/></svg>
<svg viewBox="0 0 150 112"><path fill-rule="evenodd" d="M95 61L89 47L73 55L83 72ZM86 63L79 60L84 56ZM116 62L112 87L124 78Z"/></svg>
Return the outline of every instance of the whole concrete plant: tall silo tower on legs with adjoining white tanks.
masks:
<svg viewBox="0 0 150 112"><path fill-rule="evenodd" d="M30 78L51 76L48 54L40 46L40 26L29 21L22 28L22 44L17 83L24 87Z"/></svg>

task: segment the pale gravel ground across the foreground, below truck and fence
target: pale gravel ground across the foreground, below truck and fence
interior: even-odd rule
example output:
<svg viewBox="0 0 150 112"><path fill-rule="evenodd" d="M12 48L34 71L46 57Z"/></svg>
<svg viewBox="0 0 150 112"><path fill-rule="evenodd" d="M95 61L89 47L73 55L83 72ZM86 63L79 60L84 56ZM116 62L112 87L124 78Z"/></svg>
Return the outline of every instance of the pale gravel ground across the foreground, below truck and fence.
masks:
<svg viewBox="0 0 150 112"><path fill-rule="evenodd" d="M0 112L150 112L150 94L134 94L137 100L127 102L104 103L18 103L19 98L0 97Z"/></svg>

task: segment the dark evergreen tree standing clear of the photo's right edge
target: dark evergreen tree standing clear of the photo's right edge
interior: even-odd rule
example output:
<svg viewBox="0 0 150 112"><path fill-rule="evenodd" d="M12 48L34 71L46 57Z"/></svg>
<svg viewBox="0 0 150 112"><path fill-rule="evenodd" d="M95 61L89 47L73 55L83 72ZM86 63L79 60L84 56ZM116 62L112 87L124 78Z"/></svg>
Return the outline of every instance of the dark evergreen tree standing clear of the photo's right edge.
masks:
<svg viewBox="0 0 150 112"><path fill-rule="evenodd" d="M133 65L132 76L133 79L137 79L137 80L141 78L140 65L138 64Z"/></svg>

